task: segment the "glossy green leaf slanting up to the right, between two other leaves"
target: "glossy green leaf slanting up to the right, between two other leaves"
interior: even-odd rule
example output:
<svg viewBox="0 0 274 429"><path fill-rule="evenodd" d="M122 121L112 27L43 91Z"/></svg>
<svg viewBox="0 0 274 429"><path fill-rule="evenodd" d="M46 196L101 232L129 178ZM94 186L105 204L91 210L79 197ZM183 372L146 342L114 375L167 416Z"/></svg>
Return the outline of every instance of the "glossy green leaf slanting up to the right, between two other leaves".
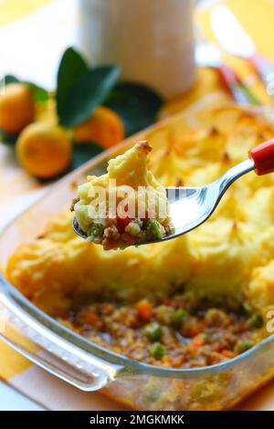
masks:
<svg viewBox="0 0 274 429"><path fill-rule="evenodd" d="M60 124L75 127L87 120L92 111L103 103L117 82L120 68L103 66L84 71L68 91L67 100L58 110Z"/></svg>

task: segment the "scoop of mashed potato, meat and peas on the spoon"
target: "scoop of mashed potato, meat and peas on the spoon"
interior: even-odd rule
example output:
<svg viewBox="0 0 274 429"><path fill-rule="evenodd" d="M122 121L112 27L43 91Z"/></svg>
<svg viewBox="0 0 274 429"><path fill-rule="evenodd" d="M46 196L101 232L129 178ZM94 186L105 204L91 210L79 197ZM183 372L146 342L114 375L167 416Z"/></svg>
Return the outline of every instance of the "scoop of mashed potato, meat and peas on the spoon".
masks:
<svg viewBox="0 0 274 429"><path fill-rule="evenodd" d="M109 162L108 173L88 176L72 205L82 232L105 250L161 240L171 232L163 186L147 168L147 141Z"/></svg>

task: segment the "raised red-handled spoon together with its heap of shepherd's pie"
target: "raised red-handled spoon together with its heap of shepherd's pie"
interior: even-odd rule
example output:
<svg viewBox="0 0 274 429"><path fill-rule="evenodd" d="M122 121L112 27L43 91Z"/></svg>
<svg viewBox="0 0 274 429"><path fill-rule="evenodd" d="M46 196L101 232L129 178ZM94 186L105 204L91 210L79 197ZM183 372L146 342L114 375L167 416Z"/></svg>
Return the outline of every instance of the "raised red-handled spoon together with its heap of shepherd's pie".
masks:
<svg viewBox="0 0 274 429"><path fill-rule="evenodd" d="M272 139L251 149L246 161L227 170L213 183L201 187L163 188L147 169L146 157L151 150L147 141L141 141L111 160L107 174L99 178L90 176L87 183L79 186L79 198L72 207L75 211L73 228L77 235L105 249L169 240L203 224L213 214L228 187L242 175L252 170L258 175L274 172ZM114 183L111 184L111 180ZM99 184L108 189L108 201L110 197L115 201L114 210L110 203L104 204L104 211L101 209L103 204L94 208L95 194L98 194L98 190L96 193L94 190ZM142 193L139 186L144 187ZM130 188L133 192L129 197ZM126 204L117 197L121 191L128 196ZM156 203L152 209L148 202L153 198ZM142 214L139 211L136 214L136 204L141 200ZM123 211L119 209L122 201ZM129 213L131 203L134 205L133 214ZM166 211L161 212L164 208Z"/></svg>

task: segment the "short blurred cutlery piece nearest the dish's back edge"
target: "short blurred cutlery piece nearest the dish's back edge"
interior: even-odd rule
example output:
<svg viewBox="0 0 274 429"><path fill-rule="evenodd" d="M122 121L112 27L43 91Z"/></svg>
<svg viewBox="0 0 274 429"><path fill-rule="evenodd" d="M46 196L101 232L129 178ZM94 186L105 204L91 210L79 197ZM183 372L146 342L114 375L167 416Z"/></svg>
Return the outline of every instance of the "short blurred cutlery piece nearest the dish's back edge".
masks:
<svg viewBox="0 0 274 429"><path fill-rule="evenodd" d="M239 105L256 104L258 100L251 94L251 92L245 87L241 80L237 77L234 70L222 63L218 67L218 70L225 81L227 89L231 93L232 97L237 101Z"/></svg>

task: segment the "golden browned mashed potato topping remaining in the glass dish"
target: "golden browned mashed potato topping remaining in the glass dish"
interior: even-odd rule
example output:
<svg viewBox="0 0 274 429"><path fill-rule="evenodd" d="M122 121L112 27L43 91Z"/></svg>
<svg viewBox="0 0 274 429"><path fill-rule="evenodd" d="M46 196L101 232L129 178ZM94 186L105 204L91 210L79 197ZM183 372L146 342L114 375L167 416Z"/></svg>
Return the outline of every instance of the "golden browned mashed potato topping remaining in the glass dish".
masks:
<svg viewBox="0 0 274 429"><path fill-rule="evenodd" d="M162 128L149 136L149 168L162 186L204 185L273 135L274 126L242 110L229 126ZM110 168L117 176L115 164ZM50 314L67 310L79 296L124 301L181 290L247 299L260 310L274 305L274 174L249 173L204 225L160 244L106 252L73 233L72 215L60 214L43 238L20 246L7 267L16 288Z"/></svg>

